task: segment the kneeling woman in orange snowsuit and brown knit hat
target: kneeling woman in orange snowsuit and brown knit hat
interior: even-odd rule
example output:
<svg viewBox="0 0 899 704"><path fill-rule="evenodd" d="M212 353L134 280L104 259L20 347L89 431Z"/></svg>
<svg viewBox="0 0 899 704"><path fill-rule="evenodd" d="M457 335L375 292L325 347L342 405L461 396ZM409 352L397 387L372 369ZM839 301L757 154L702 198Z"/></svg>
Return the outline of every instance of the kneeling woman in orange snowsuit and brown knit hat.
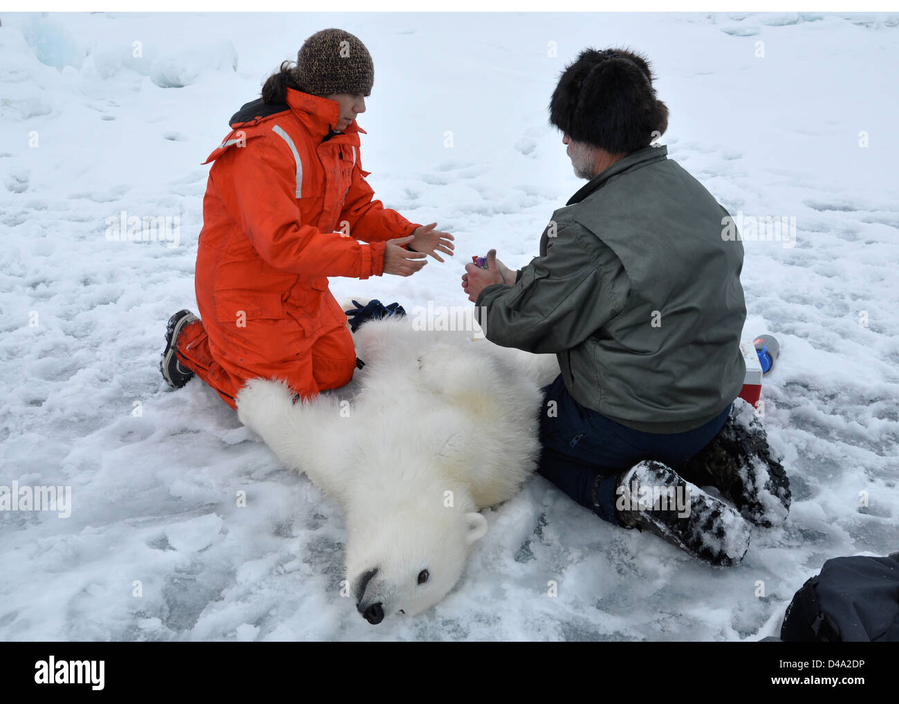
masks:
<svg viewBox="0 0 899 704"><path fill-rule="evenodd" d="M356 355L327 277L410 276L426 254L453 254L436 223L372 200L355 117L373 82L359 39L319 31L231 118L206 162L201 320L182 310L166 330L160 370L170 386L196 374L232 408L256 377L284 379L302 397L341 387Z"/></svg>

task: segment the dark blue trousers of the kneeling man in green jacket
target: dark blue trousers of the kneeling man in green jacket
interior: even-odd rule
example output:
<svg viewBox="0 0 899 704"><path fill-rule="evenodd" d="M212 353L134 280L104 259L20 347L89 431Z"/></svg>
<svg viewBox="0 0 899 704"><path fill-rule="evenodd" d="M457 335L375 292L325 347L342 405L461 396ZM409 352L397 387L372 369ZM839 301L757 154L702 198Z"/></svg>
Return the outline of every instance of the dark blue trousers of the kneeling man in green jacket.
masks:
<svg viewBox="0 0 899 704"><path fill-rule="evenodd" d="M688 432L657 435L616 423L577 403L565 388L562 376L543 388L540 443L543 450L537 471L574 501L601 519L622 525L615 512L618 477L644 459L658 459L671 468L702 450L725 424L731 406L716 418ZM556 415L547 413L556 401ZM593 504L593 485L600 479Z"/></svg>

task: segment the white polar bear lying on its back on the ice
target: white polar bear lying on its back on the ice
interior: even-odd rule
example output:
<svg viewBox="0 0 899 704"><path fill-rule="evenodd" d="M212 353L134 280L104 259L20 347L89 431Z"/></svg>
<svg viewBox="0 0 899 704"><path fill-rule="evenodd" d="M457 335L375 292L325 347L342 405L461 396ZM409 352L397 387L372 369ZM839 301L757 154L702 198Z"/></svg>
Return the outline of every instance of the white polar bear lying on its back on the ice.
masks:
<svg viewBox="0 0 899 704"><path fill-rule="evenodd" d="M362 325L349 414L340 389L294 405L284 384L253 379L236 397L241 422L346 512L346 573L363 615L441 601L485 534L477 511L515 495L536 466L555 355L470 335L415 330L409 316Z"/></svg>

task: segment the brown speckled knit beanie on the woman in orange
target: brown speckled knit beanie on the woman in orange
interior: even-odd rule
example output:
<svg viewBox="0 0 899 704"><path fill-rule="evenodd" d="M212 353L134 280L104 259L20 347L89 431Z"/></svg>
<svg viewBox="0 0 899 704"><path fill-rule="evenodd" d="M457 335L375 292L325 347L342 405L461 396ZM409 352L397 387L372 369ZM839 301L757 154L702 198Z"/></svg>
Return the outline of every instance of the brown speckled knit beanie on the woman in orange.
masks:
<svg viewBox="0 0 899 704"><path fill-rule="evenodd" d="M316 31L297 54L299 89L313 95L371 94L375 67L369 49L348 31Z"/></svg>

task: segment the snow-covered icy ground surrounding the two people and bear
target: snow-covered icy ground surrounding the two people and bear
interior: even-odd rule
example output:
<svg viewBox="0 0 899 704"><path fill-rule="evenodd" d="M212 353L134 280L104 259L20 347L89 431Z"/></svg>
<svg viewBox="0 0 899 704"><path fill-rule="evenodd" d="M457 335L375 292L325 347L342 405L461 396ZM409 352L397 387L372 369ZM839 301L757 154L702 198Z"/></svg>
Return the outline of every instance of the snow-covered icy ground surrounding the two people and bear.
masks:
<svg viewBox="0 0 899 704"><path fill-rule="evenodd" d="M0 514L0 638L755 640L826 558L899 549L899 15L0 20L0 485L72 487L67 518ZM458 244L409 279L335 279L339 299L467 305L470 254L530 261L583 183L547 102L589 45L653 60L661 142L734 215L796 218L795 242L745 243L745 334L781 343L762 398L794 503L741 566L614 528L535 477L485 512L449 598L370 626L338 593L335 504L199 381L166 390L165 321L194 307L200 164L329 26L375 60L360 124L378 197ZM180 218L178 235L109 241L121 211Z"/></svg>

